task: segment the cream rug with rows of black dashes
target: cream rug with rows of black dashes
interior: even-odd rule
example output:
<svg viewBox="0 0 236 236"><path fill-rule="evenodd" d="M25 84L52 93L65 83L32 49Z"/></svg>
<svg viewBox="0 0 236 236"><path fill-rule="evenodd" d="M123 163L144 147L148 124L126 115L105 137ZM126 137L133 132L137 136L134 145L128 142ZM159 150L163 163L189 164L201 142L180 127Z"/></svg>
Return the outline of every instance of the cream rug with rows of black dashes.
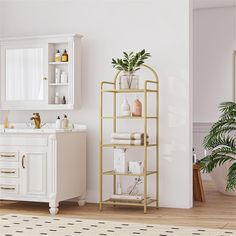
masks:
<svg viewBox="0 0 236 236"><path fill-rule="evenodd" d="M0 218L1 236L233 236L236 231L177 227L156 224L123 223L77 218L5 215Z"/></svg>

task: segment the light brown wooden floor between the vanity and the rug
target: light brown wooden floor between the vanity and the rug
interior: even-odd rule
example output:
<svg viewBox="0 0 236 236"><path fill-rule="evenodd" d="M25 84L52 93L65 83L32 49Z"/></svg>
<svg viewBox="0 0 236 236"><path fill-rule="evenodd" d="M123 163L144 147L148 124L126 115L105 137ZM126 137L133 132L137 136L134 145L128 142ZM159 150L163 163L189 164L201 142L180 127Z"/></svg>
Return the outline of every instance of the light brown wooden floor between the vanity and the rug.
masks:
<svg viewBox="0 0 236 236"><path fill-rule="evenodd" d="M58 216L236 230L236 197L218 193L211 182L204 182L204 190L206 202L195 202L189 210L149 208L143 214L142 208L107 206L100 212L97 204L78 208L76 203L66 202L60 204ZM0 201L0 215L9 213L48 215L48 204Z"/></svg>

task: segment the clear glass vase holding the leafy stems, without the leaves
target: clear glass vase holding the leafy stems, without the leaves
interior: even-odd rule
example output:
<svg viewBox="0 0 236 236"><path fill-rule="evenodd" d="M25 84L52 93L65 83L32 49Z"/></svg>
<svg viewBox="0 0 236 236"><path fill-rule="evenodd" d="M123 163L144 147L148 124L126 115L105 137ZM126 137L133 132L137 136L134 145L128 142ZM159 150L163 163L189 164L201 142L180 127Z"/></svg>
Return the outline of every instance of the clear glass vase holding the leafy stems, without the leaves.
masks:
<svg viewBox="0 0 236 236"><path fill-rule="evenodd" d="M124 72L119 78L120 89L138 89L139 78L134 73Z"/></svg>

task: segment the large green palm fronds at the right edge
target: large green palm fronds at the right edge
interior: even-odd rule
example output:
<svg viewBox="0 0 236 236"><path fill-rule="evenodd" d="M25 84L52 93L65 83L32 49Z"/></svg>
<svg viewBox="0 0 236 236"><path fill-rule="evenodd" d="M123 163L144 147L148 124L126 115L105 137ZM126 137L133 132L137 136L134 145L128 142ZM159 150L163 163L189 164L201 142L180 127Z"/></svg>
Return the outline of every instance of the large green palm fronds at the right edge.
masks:
<svg viewBox="0 0 236 236"><path fill-rule="evenodd" d="M224 102L219 108L222 114L203 141L210 154L201 159L200 164L204 172L210 173L215 167L230 162L226 190L236 190L236 103Z"/></svg>

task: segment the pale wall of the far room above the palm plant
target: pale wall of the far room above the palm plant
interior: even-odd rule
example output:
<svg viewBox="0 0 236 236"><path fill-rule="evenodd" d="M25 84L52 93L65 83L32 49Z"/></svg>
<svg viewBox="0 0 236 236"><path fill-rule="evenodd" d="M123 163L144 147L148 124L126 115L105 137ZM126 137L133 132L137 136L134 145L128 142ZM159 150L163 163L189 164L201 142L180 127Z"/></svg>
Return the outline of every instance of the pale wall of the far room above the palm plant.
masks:
<svg viewBox="0 0 236 236"><path fill-rule="evenodd" d="M233 100L235 50L235 7L194 10L194 122L216 121Z"/></svg>

